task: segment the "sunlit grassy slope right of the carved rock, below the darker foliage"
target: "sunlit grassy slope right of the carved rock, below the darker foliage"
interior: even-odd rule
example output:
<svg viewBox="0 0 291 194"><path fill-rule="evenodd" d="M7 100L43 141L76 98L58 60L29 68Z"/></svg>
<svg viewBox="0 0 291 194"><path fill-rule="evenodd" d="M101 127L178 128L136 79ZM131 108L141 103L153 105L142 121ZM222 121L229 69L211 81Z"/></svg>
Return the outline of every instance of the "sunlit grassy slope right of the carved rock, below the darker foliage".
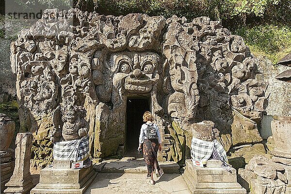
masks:
<svg viewBox="0 0 291 194"><path fill-rule="evenodd" d="M243 37L255 55L264 55L276 64L291 52L291 27L286 25L258 25L242 27L233 32Z"/></svg>

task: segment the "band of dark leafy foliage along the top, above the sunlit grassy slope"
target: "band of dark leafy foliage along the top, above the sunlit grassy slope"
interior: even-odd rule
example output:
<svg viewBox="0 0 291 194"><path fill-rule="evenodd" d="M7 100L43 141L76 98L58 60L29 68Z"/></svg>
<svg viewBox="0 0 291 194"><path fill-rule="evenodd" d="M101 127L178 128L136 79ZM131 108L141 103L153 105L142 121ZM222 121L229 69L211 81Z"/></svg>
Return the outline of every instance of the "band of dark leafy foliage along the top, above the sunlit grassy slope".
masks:
<svg viewBox="0 0 291 194"><path fill-rule="evenodd" d="M74 4L84 11L114 16L145 13L189 20L209 16L227 28L265 21L291 22L289 0L75 0Z"/></svg>

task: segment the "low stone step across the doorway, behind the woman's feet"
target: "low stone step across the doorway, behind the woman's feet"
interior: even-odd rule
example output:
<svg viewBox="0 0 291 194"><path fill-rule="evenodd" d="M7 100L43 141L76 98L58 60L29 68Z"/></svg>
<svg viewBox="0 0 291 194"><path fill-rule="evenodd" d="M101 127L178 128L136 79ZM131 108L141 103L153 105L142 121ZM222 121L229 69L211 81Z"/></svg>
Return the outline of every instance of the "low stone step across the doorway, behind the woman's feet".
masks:
<svg viewBox="0 0 291 194"><path fill-rule="evenodd" d="M180 166L176 162L159 162L164 173L179 173ZM93 166L100 173L147 173L144 160L128 160L100 162Z"/></svg>

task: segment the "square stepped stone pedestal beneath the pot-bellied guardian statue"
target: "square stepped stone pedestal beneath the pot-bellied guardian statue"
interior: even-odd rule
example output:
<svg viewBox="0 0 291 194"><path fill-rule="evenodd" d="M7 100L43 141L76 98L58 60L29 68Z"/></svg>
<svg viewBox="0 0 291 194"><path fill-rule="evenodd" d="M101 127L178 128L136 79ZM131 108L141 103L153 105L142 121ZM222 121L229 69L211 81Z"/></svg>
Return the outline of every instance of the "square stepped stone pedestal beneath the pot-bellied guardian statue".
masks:
<svg viewBox="0 0 291 194"><path fill-rule="evenodd" d="M96 177L93 167L81 169L46 167L31 194L83 194Z"/></svg>

